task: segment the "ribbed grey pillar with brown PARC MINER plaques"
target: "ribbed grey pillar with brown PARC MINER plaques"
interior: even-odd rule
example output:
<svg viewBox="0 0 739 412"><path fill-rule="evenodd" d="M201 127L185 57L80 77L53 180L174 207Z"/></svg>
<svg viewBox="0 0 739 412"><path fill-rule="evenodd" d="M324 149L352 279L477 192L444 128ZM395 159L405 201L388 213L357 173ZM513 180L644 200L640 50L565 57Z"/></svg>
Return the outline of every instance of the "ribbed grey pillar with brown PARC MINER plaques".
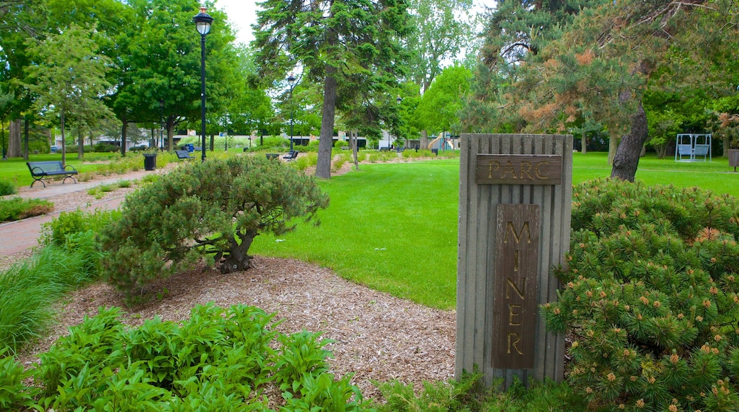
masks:
<svg viewBox="0 0 739 412"><path fill-rule="evenodd" d="M565 343L539 305L554 301L570 241L572 137L463 134L456 374L486 385L562 380Z"/></svg>

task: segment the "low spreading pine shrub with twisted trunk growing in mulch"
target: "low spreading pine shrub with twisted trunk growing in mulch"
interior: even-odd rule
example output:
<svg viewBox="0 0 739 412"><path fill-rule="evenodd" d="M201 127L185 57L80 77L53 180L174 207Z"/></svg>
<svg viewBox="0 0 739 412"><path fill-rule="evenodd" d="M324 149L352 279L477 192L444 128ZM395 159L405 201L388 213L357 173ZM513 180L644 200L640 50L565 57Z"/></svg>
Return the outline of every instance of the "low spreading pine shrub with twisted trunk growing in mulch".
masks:
<svg viewBox="0 0 739 412"><path fill-rule="evenodd" d="M106 278L129 294L207 256L222 272L251 267L259 233L293 230L328 205L313 178L283 162L240 156L190 162L129 195L101 231Z"/></svg>

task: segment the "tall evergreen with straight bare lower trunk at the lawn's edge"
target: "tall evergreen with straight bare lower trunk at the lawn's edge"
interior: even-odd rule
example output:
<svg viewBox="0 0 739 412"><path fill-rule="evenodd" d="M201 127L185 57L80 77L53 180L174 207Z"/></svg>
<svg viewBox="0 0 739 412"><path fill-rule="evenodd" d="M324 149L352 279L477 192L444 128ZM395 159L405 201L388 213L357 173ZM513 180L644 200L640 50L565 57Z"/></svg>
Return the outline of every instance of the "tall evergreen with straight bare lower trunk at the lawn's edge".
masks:
<svg viewBox="0 0 739 412"><path fill-rule="evenodd" d="M331 147L340 85L357 73L363 88L397 81L406 53L401 38L411 32L406 0L265 0L255 26L259 75L284 79L302 66L307 81L323 85L316 176L330 178Z"/></svg>

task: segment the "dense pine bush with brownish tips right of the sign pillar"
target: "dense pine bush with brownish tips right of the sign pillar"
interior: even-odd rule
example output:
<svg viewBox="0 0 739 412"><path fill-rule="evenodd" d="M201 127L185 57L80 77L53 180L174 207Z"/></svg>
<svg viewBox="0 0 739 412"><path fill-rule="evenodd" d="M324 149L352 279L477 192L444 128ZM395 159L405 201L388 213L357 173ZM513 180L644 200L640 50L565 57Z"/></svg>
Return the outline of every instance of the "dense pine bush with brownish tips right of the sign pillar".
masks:
<svg viewBox="0 0 739 412"><path fill-rule="evenodd" d="M564 289L568 381L596 403L739 410L739 200L596 180L576 186Z"/></svg>

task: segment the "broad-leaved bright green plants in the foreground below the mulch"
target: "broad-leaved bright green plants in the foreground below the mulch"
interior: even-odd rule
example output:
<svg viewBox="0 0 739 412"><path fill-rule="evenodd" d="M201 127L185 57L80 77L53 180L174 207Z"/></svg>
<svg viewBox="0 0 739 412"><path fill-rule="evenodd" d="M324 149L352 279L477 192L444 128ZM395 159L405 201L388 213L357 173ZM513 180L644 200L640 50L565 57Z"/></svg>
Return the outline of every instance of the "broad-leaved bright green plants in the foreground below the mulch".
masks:
<svg viewBox="0 0 739 412"><path fill-rule="evenodd" d="M285 410L364 410L350 377L336 380L325 372L324 358L330 353L321 347L327 342L307 332L280 334L273 317L249 306L223 309L209 303L196 306L181 323L154 319L128 329L119 320L119 309L101 309L41 354L41 365L33 369L35 384L43 388L38 406L55 411L269 411L265 389L285 382L283 399L273 399ZM284 354L298 354L299 360ZM0 375L0 388L9 383ZM33 390L17 388L20 394Z"/></svg>

